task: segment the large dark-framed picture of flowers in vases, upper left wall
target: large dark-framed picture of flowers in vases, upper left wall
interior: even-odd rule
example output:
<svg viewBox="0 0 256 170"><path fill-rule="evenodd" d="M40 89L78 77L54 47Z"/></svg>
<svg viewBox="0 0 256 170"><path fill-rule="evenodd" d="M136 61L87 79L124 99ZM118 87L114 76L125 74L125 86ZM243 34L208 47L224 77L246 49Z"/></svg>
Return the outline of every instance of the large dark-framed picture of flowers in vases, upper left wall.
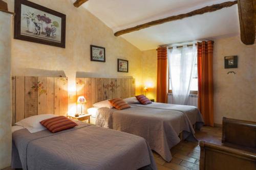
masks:
<svg viewBox="0 0 256 170"><path fill-rule="evenodd" d="M15 39L65 48L65 14L26 0L15 0L14 11Z"/></svg>

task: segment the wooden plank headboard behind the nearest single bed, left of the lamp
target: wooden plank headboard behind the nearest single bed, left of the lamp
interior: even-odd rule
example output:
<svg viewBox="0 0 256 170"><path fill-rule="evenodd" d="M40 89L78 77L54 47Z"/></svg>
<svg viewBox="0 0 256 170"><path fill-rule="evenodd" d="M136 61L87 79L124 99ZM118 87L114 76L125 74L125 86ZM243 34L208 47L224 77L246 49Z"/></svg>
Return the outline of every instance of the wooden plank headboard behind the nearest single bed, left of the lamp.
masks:
<svg viewBox="0 0 256 170"><path fill-rule="evenodd" d="M12 77L12 125L37 114L68 113L68 78Z"/></svg>

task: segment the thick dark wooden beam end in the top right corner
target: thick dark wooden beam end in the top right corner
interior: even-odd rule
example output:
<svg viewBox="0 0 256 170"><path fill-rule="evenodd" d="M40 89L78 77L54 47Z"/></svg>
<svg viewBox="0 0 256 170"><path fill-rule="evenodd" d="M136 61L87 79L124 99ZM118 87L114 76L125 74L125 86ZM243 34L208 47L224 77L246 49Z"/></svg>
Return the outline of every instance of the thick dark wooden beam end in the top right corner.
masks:
<svg viewBox="0 0 256 170"><path fill-rule="evenodd" d="M255 41L255 6L255 0L238 0L240 36L246 45L254 44Z"/></svg>

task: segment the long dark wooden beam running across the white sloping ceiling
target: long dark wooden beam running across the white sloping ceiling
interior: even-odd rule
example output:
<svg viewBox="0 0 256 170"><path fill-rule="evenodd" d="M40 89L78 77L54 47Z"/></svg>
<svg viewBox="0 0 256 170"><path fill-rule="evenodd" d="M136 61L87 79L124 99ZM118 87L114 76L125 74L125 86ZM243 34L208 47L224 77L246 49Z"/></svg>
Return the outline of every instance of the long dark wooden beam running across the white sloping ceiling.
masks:
<svg viewBox="0 0 256 170"><path fill-rule="evenodd" d="M204 8L200 8L191 12L188 12L186 14L180 14L180 15L175 15L175 16L169 16L167 18L163 18L163 19L158 19L158 20L154 20L151 22L147 22L147 23L143 23L142 25L138 25L136 27L132 27L132 28L128 28L128 29L124 29L121 31L116 32L114 35L115 36L120 36L126 33L131 33L134 31L138 31L144 28L148 28L148 27L152 27L152 26L156 26L156 25L160 25L162 23L165 22L170 22L170 21L174 21L174 20L178 20L178 19L183 19L186 17L190 17L190 16L194 16L194 15L201 15L207 12L214 12L217 10L220 10L222 8L226 8L226 7L231 7L232 5L237 4L237 1L233 1L233 2L225 2L225 3L221 3L221 4L215 4L215 5L211 5L211 6L207 6Z"/></svg>

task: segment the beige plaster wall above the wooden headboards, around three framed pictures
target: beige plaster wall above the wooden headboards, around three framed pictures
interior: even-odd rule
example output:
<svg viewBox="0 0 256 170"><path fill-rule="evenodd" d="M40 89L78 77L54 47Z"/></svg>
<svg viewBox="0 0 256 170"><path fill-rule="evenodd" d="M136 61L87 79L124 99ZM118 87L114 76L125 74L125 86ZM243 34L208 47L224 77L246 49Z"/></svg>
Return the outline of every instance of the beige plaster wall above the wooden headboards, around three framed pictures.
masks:
<svg viewBox="0 0 256 170"><path fill-rule="evenodd" d="M13 11L14 0L6 1ZM74 112L76 72L89 72L97 77L133 76L140 93L142 52L83 7L75 8L70 0L32 0L67 17L66 48L12 40L12 75L69 77L69 109ZM106 48L106 62L90 61L90 44ZM129 73L117 72L117 58L129 60ZM88 74L87 74L88 75Z"/></svg>

